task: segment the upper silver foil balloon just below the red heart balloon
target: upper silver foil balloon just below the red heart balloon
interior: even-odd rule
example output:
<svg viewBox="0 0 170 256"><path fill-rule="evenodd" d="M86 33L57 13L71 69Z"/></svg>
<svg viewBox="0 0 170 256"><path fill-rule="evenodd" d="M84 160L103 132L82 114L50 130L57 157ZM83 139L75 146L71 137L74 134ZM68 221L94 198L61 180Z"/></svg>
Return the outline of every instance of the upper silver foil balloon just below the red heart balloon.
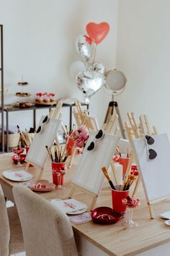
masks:
<svg viewBox="0 0 170 256"><path fill-rule="evenodd" d="M88 61L93 54L93 46L87 43L84 35L79 35L78 38L76 38L76 52L86 61Z"/></svg>

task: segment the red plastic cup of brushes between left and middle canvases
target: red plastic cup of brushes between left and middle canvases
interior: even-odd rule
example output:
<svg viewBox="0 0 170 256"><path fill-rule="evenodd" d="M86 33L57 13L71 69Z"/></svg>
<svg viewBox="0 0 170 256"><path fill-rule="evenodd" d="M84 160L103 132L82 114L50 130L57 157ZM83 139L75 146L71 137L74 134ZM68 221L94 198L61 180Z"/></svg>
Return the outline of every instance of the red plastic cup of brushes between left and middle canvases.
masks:
<svg viewBox="0 0 170 256"><path fill-rule="evenodd" d="M59 186L63 185L63 176L66 173L66 162L64 163L55 163L52 162L52 174L53 174L53 184ZM61 176L58 174L61 173Z"/></svg>

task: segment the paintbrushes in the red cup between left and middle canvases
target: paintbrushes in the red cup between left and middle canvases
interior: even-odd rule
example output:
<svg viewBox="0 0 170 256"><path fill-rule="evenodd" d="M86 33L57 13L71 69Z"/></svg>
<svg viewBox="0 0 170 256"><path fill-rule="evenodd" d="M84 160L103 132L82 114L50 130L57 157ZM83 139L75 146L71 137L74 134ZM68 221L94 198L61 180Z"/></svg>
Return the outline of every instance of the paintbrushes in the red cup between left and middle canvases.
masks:
<svg viewBox="0 0 170 256"><path fill-rule="evenodd" d="M53 144L53 153L50 147L48 145L45 146L46 150L48 151L48 155L50 156L50 159L52 162L55 163L64 163L66 162L68 155L70 153L71 147L66 149L66 146L63 148L59 148L57 144L54 142Z"/></svg>

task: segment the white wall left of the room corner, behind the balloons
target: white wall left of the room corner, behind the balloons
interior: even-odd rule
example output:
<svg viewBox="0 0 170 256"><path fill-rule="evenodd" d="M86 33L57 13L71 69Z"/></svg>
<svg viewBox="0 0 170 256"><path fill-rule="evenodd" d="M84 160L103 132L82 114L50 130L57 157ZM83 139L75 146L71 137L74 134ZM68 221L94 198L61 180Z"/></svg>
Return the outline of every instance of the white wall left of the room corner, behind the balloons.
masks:
<svg viewBox="0 0 170 256"><path fill-rule="evenodd" d="M76 37L89 22L108 22L110 32L97 48L97 60L115 68L117 0L0 0L0 23L4 24L4 82L9 88L5 103L14 103L17 82L24 74L32 99L37 92L56 93L57 98L82 93L69 77L76 54ZM102 89L91 99L91 115L102 124L110 95ZM42 111L39 111L42 114ZM27 115L25 115L27 114ZM37 119L40 119L40 114ZM64 111L65 121L68 114ZM30 111L10 114L11 124L29 127Z"/></svg>

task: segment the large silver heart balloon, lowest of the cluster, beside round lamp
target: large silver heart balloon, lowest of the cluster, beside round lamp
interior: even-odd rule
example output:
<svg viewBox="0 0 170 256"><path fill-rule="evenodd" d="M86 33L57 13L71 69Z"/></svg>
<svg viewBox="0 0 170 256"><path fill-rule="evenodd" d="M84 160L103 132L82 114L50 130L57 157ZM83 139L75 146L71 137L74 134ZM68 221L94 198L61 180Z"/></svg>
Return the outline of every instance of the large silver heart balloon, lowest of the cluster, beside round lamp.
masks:
<svg viewBox="0 0 170 256"><path fill-rule="evenodd" d="M78 88L88 97L90 98L94 93L102 88L104 85L105 78L102 74L97 72L80 72L76 76L76 83Z"/></svg>

